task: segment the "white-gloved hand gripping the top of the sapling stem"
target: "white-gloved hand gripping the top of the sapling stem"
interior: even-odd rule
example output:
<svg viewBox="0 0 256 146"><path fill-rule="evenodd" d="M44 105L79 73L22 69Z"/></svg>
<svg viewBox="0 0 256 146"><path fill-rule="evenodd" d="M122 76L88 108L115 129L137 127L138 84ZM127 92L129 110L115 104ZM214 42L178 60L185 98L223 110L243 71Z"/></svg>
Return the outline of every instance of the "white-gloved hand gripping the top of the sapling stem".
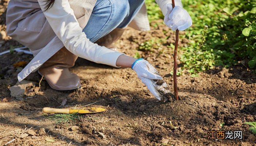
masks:
<svg viewBox="0 0 256 146"><path fill-rule="evenodd" d="M166 26L172 30L185 30L192 26L192 19L188 12L180 6L172 8L172 4L167 4L167 12L163 20Z"/></svg>

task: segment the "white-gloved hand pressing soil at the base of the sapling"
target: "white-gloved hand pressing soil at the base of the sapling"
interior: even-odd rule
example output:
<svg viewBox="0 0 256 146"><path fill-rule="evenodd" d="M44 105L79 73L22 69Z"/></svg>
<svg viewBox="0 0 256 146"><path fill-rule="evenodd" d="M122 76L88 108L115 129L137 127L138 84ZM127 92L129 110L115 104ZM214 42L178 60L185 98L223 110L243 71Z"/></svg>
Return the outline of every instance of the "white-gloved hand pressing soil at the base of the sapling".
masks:
<svg viewBox="0 0 256 146"><path fill-rule="evenodd" d="M140 80L147 86L148 90L158 99L161 100L162 96L158 92L156 81L161 80L162 77L159 76L159 72L144 59L138 59L132 64L132 70L134 70Z"/></svg>

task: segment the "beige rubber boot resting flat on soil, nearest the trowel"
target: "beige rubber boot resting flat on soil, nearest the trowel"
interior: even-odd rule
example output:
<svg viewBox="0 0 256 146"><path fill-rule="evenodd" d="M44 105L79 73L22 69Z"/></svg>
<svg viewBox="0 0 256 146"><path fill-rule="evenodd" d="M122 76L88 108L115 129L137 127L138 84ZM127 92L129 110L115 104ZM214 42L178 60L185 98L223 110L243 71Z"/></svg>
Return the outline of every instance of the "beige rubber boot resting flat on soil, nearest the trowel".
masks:
<svg viewBox="0 0 256 146"><path fill-rule="evenodd" d="M53 89L62 91L77 89L81 87L80 78L68 69L75 65L77 58L63 47L38 69L38 73L44 76Z"/></svg>

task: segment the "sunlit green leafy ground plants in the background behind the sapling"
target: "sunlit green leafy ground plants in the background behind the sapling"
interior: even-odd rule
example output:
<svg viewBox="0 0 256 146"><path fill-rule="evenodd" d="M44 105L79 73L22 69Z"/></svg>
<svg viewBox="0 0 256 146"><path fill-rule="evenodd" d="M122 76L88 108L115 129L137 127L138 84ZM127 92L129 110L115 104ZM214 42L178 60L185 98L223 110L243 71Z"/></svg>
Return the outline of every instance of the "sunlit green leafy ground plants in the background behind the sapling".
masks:
<svg viewBox="0 0 256 146"><path fill-rule="evenodd" d="M146 0L150 22L163 19L154 0ZM246 61L256 71L256 0L182 0L193 26L180 38L189 43L178 53L182 70L197 74L214 66L230 67ZM170 30L171 31L171 30ZM149 41L141 49L155 49Z"/></svg>

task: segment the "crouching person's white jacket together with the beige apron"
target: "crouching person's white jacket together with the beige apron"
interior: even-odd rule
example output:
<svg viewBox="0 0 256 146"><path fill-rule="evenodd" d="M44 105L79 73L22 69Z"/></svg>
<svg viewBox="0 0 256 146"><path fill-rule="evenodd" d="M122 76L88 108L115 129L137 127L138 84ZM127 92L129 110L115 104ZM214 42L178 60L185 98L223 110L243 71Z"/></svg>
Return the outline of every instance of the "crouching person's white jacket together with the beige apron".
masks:
<svg viewBox="0 0 256 146"><path fill-rule="evenodd" d="M19 81L37 70L63 46L84 59L117 67L116 60L124 53L98 46L82 32L97 0L56 0L52 8L42 13L44 1L10 0L8 4L8 35L27 46L35 55L18 74ZM166 5L171 0L156 1L165 14ZM176 1L176 5L182 6L180 0ZM131 26L143 31L150 29L145 6Z"/></svg>

